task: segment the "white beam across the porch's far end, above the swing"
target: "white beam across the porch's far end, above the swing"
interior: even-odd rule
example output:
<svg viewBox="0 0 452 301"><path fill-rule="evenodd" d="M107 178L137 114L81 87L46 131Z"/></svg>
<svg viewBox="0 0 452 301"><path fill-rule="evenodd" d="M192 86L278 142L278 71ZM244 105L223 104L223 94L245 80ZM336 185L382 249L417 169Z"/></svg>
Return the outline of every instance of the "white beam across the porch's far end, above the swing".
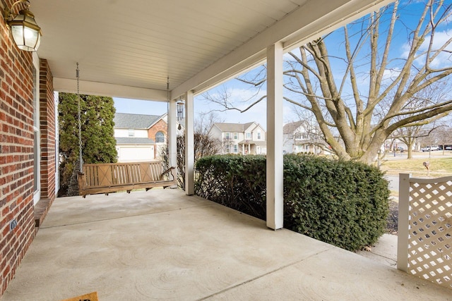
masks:
<svg viewBox="0 0 452 301"><path fill-rule="evenodd" d="M58 92L77 92L77 81L67 78L54 78L54 90ZM167 91L113 85L105 82L80 81L80 93L107 97L121 97L129 99L153 100L167 102Z"/></svg>

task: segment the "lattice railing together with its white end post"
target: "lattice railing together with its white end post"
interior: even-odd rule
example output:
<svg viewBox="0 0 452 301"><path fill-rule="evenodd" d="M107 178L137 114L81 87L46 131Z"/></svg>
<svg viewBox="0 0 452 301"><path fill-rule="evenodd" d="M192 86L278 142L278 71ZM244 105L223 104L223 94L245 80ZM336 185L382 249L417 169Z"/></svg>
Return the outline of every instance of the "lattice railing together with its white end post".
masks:
<svg viewBox="0 0 452 301"><path fill-rule="evenodd" d="M400 173L397 268L452 289L452 177Z"/></svg>

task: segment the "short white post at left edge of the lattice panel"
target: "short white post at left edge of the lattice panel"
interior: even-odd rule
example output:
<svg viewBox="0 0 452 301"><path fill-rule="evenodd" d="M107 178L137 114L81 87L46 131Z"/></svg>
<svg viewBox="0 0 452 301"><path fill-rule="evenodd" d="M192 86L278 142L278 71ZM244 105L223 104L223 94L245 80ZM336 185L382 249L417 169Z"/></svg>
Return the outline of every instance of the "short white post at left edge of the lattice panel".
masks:
<svg viewBox="0 0 452 301"><path fill-rule="evenodd" d="M410 209L410 173L398 175L397 269L408 271L408 227Z"/></svg>

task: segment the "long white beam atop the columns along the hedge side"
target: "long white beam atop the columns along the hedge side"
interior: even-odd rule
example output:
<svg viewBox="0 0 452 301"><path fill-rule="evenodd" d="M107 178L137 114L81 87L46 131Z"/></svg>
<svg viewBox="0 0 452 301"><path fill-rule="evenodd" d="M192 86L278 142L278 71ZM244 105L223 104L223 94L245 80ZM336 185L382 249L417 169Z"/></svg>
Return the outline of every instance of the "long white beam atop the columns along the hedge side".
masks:
<svg viewBox="0 0 452 301"><path fill-rule="evenodd" d="M176 99L186 91L198 94L262 63L266 59L266 48L272 44L283 42L283 49L292 49L391 2L393 0L307 1L242 47L175 87L171 97Z"/></svg>

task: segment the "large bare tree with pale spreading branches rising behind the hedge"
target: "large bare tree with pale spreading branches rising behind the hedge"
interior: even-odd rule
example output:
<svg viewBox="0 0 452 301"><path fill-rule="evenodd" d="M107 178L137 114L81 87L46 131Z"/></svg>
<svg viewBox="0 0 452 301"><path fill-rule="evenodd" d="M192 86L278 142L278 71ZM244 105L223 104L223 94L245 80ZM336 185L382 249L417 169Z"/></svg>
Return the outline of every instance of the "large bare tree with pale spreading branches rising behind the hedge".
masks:
<svg viewBox="0 0 452 301"><path fill-rule="evenodd" d="M443 85L445 91L451 90L452 37L446 30L452 4L443 0L400 3L287 55L285 99L314 114L340 159L369 163L398 128L428 123L452 111L450 94L422 107L407 105L428 87ZM404 22L400 14L409 14L410 22ZM413 25L412 20L417 22ZM338 43L339 32L342 43ZM404 44L400 44L402 39ZM264 74L262 68L253 73L254 78L240 80L260 88ZM250 101L249 107L260 99ZM223 102L225 108L232 108L227 100Z"/></svg>

